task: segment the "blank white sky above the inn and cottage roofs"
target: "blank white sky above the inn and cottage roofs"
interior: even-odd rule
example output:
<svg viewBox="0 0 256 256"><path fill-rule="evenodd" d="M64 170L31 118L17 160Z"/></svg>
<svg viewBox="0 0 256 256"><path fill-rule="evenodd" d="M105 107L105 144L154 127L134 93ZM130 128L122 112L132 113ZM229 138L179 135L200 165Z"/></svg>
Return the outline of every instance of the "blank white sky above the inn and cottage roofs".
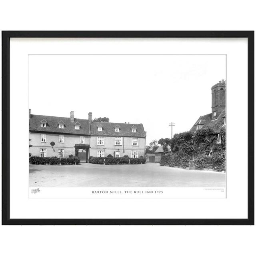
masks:
<svg viewBox="0 0 256 256"><path fill-rule="evenodd" d="M225 55L30 55L31 114L142 123L146 144L211 113Z"/></svg>

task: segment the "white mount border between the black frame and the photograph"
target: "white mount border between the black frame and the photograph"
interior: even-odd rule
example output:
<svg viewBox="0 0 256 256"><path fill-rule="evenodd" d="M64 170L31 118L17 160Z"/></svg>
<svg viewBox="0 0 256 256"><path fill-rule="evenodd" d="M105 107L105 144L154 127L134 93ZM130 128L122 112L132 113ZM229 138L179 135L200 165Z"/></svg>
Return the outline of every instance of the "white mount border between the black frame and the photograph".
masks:
<svg viewBox="0 0 256 256"><path fill-rule="evenodd" d="M19 127L19 132L22 134L19 137L19 143L28 145L29 142L28 54L95 54L98 52L104 54L227 54L226 199L220 198L221 193L215 190L216 196L212 200L204 199L208 190L203 191L204 195L200 196L199 193L198 196L194 196L194 199L190 199L190 196L184 193L185 189L178 188L173 190L165 188L162 196L171 197L165 200L160 196L136 200L122 198L91 200L88 199L91 196L88 195L88 188L82 189L85 197L83 199L58 199L59 188L54 188L52 193L54 199L51 200L28 198L29 148L23 146L19 154L16 154L17 123L23 123ZM241 175L241 171L247 169L247 117L244 115L247 112L247 87L241 88L240 81L247 84L246 38L11 38L10 218L247 218L247 172ZM169 94L171 88L171 86L165 87L167 91L165 93ZM184 90L186 92L186 87ZM40 90L38 91L40 93ZM41 93L37 97L41 100ZM45 98L48 100L47 96ZM44 102L44 99L42 101ZM242 104L239 104L238 108L240 102ZM52 107L54 108L54 105ZM190 110L186 102L184 102L184 108ZM243 116L244 120L244 139L239 141L240 148L243 148L239 152L242 165L233 161L237 154L237 141L234 140L237 136L237 116ZM239 190L237 184L239 184ZM70 188L64 188L64 191L67 192L67 190ZM42 197L48 197L47 191L49 192L49 189L42 189ZM184 198L178 200L176 197L180 197L181 194ZM191 196L193 197L192 193Z"/></svg>

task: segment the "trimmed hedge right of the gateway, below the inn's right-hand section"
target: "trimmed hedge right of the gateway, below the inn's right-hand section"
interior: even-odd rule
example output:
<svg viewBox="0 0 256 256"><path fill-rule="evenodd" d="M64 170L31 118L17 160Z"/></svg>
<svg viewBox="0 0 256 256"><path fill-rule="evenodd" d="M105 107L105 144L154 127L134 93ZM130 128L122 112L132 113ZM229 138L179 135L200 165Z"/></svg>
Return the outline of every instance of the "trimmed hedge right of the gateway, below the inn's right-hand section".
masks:
<svg viewBox="0 0 256 256"><path fill-rule="evenodd" d="M123 157L94 157L90 156L89 163L91 164L129 164L129 160L131 164L145 164L146 158L140 157L140 158L129 158L126 156Z"/></svg>

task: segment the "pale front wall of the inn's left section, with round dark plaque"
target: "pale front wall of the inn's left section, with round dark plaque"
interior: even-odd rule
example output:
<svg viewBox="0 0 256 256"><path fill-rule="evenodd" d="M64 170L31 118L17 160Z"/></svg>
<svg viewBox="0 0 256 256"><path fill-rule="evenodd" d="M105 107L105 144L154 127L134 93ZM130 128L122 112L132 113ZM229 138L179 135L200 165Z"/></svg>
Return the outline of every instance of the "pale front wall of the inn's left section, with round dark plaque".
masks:
<svg viewBox="0 0 256 256"><path fill-rule="evenodd" d="M30 132L29 144L32 147L29 148L29 152L32 156L40 156L40 148L46 148L46 156L58 156L58 149L64 149L64 157L68 155L75 155L75 144L80 144L80 135L70 134L46 134L46 142L41 142L41 134L38 132ZM64 143L59 142L59 135L64 135ZM55 142L54 146L50 145L50 142ZM84 144L90 144L89 136L84 136Z"/></svg>

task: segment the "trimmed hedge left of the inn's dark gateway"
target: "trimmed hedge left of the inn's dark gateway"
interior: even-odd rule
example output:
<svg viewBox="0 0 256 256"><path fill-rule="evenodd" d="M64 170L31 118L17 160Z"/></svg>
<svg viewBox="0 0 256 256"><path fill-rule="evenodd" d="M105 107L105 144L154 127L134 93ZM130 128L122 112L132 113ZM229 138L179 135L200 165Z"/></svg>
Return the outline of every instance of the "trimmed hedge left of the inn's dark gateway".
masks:
<svg viewBox="0 0 256 256"><path fill-rule="evenodd" d="M31 156L30 164L79 164L80 158L72 156L68 158Z"/></svg>

